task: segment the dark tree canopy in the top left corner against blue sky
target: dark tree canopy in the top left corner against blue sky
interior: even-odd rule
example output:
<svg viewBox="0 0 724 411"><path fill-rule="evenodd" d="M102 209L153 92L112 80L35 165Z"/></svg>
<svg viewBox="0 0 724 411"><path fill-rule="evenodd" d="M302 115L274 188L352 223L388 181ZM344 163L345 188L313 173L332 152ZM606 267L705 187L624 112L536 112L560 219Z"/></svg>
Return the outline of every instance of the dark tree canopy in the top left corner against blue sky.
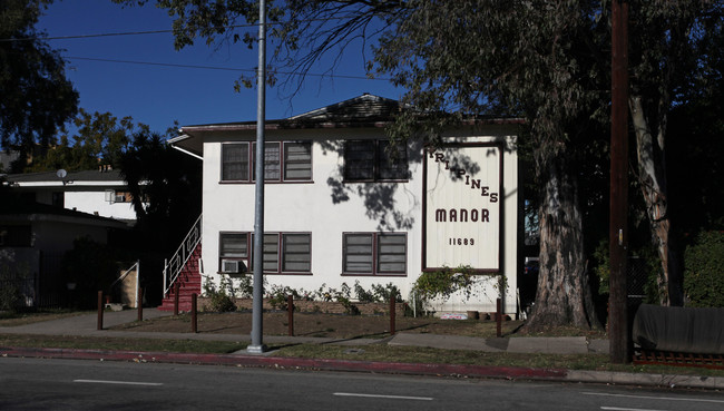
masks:
<svg viewBox="0 0 724 411"><path fill-rule="evenodd" d="M48 143L78 107L60 55L35 26L50 0L0 2L0 146Z"/></svg>

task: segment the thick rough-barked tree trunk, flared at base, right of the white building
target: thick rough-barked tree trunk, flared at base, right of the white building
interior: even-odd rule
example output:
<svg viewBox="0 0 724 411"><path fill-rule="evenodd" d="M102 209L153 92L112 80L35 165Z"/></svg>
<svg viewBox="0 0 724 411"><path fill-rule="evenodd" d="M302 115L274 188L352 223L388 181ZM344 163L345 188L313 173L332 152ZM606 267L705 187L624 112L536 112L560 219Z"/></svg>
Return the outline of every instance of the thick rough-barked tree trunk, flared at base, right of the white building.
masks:
<svg viewBox="0 0 724 411"><path fill-rule="evenodd" d="M576 177L565 153L540 164L540 268L536 305L525 330L600 327L588 281Z"/></svg>

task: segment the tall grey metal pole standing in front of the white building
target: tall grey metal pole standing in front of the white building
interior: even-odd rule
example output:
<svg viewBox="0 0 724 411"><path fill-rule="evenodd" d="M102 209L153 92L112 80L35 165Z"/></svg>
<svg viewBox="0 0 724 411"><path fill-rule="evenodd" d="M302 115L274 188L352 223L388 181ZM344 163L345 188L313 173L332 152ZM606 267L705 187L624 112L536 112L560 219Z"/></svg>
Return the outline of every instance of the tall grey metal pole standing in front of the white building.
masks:
<svg viewBox="0 0 724 411"><path fill-rule="evenodd" d="M263 353L264 296L264 126L266 123L266 3L258 4L258 68L256 76L256 195L254 209L254 292L252 304L252 344L250 353Z"/></svg>

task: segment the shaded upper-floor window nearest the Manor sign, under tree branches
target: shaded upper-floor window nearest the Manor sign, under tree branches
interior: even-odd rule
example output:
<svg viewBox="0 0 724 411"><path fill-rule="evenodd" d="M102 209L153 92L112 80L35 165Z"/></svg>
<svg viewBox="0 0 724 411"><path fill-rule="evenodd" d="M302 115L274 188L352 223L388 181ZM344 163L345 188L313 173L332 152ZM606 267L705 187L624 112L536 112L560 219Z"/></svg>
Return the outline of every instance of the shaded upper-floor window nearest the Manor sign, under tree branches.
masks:
<svg viewBox="0 0 724 411"><path fill-rule="evenodd" d="M344 147L344 180L407 180L408 151L389 140L348 140Z"/></svg>

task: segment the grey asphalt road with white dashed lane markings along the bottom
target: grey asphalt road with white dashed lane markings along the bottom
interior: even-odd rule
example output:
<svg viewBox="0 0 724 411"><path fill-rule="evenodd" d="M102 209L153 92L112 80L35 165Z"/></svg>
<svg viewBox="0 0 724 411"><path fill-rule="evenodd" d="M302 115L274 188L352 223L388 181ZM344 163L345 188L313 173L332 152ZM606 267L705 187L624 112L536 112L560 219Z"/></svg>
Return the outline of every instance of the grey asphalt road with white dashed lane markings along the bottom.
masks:
<svg viewBox="0 0 724 411"><path fill-rule="evenodd" d="M0 358L0 410L722 410L712 391Z"/></svg>

